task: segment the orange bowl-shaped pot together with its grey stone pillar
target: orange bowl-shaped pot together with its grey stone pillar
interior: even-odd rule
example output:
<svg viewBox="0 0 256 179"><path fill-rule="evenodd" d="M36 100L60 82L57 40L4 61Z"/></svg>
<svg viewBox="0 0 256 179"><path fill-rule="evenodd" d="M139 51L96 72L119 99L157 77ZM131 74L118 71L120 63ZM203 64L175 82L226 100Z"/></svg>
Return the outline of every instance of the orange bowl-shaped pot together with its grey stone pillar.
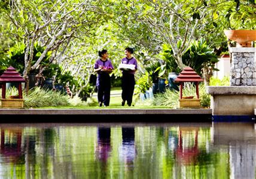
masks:
<svg viewBox="0 0 256 179"><path fill-rule="evenodd" d="M230 86L256 85L256 30L224 30L231 41L236 41L236 47L229 48L231 54Z"/></svg>

